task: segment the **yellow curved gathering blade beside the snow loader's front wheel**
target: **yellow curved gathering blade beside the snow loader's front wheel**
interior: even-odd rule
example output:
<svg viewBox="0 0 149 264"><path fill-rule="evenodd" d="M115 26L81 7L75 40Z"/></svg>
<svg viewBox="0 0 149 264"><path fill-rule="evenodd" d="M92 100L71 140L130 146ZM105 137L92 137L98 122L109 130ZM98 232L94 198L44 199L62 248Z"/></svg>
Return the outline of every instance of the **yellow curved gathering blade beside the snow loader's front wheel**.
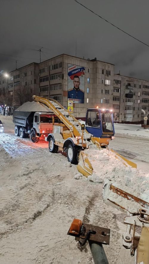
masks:
<svg viewBox="0 0 149 264"><path fill-rule="evenodd" d="M87 154L85 154L83 151L80 151L79 154L79 163L77 164L77 170L85 177L93 174L93 167L89 162Z"/></svg>

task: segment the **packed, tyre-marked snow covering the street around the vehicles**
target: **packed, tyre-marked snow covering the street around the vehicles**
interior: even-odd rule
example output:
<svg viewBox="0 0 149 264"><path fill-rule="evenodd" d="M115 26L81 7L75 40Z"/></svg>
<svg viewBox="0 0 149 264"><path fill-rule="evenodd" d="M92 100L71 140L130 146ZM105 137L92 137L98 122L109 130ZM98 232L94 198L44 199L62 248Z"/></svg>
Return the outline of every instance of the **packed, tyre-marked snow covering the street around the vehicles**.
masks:
<svg viewBox="0 0 149 264"><path fill-rule="evenodd" d="M88 244L82 251L66 235L73 218L111 229L110 245L104 246L109 264L134 263L122 247L125 214L103 203L103 183L75 179L77 168L66 156L49 153L46 142L16 137L12 117L0 119L0 263L93 263ZM149 130L115 124L115 132L110 147L140 170L125 167L107 149L86 150L96 174L148 195Z"/></svg>

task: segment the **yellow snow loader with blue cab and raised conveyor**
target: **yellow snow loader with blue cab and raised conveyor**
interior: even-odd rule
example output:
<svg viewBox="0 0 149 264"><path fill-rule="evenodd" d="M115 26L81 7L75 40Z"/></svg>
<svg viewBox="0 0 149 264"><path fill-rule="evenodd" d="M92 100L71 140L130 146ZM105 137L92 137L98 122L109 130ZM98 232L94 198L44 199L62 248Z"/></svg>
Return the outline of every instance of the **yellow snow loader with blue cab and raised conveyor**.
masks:
<svg viewBox="0 0 149 264"><path fill-rule="evenodd" d="M60 103L54 99L47 99L33 95L33 100L45 104L60 120L55 124L53 117L53 132L45 137L49 142L49 151L57 153L58 150L67 153L67 159L72 164L77 164L77 169L88 177L93 173L93 167L87 154L83 150L107 147L110 140L114 139L114 121L112 110L90 108L86 112L86 126L72 116ZM113 150L114 151L114 150ZM123 163L129 163L122 156ZM129 164L132 167L132 164Z"/></svg>

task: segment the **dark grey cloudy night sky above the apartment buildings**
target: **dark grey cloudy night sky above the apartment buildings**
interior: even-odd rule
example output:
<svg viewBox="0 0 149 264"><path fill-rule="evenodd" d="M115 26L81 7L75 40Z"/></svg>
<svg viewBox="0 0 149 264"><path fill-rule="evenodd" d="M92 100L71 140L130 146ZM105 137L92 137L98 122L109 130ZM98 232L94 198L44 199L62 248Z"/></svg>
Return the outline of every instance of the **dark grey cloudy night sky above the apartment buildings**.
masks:
<svg viewBox="0 0 149 264"><path fill-rule="evenodd" d="M149 45L149 1L78 0ZM0 0L0 71L62 53L115 64L115 73L149 80L149 47L74 0ZM5 54L5 55L2 55ZM6 56L7 55L7 56ZM8 56L11 55L11 56Z"/></svg>

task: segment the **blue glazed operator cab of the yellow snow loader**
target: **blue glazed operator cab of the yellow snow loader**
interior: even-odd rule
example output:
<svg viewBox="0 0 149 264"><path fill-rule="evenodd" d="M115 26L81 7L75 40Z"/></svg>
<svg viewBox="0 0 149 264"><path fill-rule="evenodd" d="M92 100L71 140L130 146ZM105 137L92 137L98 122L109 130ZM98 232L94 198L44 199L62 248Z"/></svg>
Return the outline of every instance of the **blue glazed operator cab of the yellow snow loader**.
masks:
<svg viewBox="0 0 149 264"><path fill-rule="evenodd" d="M95 137L114 136L112 110L88 109L86 113L86 130Z"/></svg>

